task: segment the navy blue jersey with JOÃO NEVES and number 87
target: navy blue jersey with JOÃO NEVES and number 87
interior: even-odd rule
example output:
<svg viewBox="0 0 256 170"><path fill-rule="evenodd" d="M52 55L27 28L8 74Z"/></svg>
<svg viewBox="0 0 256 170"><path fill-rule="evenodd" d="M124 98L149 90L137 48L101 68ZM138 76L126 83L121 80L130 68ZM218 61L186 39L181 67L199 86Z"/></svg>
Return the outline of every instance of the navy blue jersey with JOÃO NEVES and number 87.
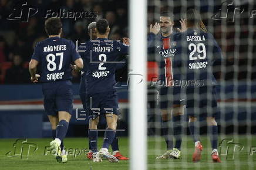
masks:
<svg viewBox="0 0 256 170"><path fill-rule="evenodd" d="M31 57L39 62L41 82L72 79L70 64L79 58L74 43L59 37L37 43Z"/></svg>

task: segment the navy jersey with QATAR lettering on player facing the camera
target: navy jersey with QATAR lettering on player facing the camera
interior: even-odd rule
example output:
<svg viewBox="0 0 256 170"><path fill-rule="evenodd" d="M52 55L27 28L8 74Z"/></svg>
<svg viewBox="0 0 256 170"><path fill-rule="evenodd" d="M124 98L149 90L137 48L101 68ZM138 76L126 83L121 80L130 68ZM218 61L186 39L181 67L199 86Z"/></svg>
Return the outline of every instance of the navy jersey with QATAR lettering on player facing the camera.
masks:
<svg viewBox="0 0 256 170"><path fill-rule="evenodd" d="M173 32L170 36L154 35L148 36L148 52L157 54L159 63L158 79L164 81L166 86L172 86L175 80L180 80L180 72L173 72L173 58L176 57L176 41L180 33Z"/></svg>

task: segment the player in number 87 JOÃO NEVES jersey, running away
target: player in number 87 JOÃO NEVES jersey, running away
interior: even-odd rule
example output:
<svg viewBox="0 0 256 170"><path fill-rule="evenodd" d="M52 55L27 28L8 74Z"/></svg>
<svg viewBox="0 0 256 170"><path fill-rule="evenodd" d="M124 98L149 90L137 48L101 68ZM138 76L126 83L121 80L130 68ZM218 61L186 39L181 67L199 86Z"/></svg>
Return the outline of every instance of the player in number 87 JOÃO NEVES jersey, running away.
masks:
<svg viewBox="0 0 256 170"><path fill-rule="evenodd" d="M68 159L63 149L63 139L73 110L70 64L74 62L76 67L82 69L83 60L72 41L60 38L62 23L59 18L47 19L45 31L49 38L36 44L29 62L29 72L33 83L38 82L39 77L42 83L43 106L52 125L53 141L50 147L55 150L58 162L66 162ZM41 76L36 74L37 66Z"/></svg>

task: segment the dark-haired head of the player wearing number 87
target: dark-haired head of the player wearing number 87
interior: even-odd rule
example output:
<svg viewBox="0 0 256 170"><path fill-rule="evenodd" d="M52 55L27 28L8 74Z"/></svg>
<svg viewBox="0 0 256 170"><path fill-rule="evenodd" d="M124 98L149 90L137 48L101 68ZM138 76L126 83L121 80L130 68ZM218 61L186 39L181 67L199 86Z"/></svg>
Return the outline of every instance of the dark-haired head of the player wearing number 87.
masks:
<svg viewBox="0 0 256 170"><path fill-rule="evenodd" d="M60 18L48 18L45 21L45 31L48 35L59 35L62 29Z"/></svg>

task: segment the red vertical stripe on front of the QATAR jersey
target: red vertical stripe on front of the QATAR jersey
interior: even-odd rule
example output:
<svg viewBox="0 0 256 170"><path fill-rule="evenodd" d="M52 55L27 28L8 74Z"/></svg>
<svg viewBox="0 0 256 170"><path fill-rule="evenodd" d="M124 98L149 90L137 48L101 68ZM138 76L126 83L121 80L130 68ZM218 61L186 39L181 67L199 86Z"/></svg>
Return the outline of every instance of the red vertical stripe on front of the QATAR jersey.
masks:
<svg viewBox="0 0 256 170"><path fill-rule="evenodd" d="M170 49L171 48L171 39L170 38L163 38L163 49ZM165 76L166 76L166 86L170 87L173 86L173 66L171 65L171 57L166 57L164 59L166 66L164 66Z"/></svg>

